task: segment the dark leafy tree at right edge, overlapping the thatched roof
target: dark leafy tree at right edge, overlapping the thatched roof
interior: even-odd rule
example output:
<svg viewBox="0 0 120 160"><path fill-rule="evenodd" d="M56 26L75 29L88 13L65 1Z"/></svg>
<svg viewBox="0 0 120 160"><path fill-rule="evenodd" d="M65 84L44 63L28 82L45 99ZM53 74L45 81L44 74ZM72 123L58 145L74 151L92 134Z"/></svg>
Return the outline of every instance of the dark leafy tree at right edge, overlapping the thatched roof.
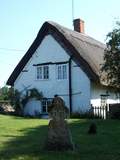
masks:
<svg viewBox="0 0 120 160"><path fill-rule="evenodd" d="M116 87L120 91L120 23L107 35L104 64L102 72L109 86Z"/></svg>

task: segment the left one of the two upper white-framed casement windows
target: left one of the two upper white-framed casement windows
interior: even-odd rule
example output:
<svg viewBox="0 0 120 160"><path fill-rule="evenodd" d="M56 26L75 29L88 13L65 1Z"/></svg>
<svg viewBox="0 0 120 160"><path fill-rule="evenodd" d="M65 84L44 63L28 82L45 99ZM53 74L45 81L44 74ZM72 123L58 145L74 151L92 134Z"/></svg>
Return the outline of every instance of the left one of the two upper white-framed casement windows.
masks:
<svg viewBox="0 0 120 160"><path fill-rule="evenodd" d="M49 79L49 66L38 66L36 78L37 80Z"/></svg>

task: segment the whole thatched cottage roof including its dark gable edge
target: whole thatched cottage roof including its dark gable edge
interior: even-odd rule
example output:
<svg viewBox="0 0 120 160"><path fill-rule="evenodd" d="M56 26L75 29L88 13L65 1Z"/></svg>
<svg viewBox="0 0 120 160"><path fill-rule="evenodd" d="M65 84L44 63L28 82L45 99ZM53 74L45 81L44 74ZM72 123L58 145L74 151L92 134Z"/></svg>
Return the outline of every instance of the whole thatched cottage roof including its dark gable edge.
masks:
<svg viewBox="0 0 120 160"><path fill-rule="evenodd" d="M14 69L7 81L8 85L14 85L15 80L48 34L59 42L92 81L100 82L100 65L103 63L105 45L86 34L49 21L43 24L31 47Z"/></svg>

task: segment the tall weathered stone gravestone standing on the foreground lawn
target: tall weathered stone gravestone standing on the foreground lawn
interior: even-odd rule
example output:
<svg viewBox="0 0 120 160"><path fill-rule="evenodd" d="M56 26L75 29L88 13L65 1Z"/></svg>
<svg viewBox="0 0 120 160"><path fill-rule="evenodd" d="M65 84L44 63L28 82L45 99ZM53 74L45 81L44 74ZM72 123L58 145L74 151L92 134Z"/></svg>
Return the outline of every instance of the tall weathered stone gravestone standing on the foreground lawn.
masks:
<svg viewBox="0 0 120 160"><path fill-rule="evenodd" d="M73 150L72 136L65 118L69 110L60 97L55 97L48 108L51 118L48 125L48 136L45 148L47 150Z"/></svg>

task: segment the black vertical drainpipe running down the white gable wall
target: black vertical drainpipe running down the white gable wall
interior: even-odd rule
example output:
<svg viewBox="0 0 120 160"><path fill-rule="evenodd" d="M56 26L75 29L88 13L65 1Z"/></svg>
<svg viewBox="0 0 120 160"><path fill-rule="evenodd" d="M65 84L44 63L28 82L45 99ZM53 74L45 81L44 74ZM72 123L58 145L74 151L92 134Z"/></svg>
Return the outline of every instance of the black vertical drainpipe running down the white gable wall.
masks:
<svg viewBox="0 0 120 160"><path fill-rule="evenodd" d="M72 76L71 76L71 62L72 57L69 59L69 104L70 104L70 114L72 113Z"/></svg>

